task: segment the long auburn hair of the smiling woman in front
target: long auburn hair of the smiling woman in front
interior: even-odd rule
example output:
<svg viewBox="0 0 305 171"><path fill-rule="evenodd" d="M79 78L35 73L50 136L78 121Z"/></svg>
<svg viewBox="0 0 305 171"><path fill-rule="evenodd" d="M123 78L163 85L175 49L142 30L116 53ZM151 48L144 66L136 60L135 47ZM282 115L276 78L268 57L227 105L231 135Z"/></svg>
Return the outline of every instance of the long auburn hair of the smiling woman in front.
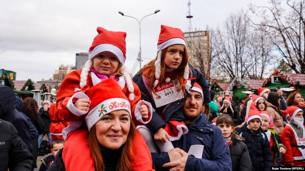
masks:
<svg viewBox="0 0 305 171"><path fill-rule="evenodd" d="M127 136L126 142L122 145L121 157L117 163L117 171L131 171L131 161L135 159L132 152L132 142L134 136L137 133L137 129L133 122L131 121L130 130ZM102 157L101 148L99 146L99 141L96 138L95 126L92 127L88 138L89 148L94 161L94 167L96 171L105 171L105 163Z"/></svg>

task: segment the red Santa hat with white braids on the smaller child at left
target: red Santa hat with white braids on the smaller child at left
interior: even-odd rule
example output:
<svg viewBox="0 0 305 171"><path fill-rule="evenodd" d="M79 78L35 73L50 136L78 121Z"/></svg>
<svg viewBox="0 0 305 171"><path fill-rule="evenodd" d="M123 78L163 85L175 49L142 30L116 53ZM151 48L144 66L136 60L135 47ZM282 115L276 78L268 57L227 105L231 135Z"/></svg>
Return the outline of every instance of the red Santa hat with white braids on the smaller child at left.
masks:
<svg viewBox="0 0 305 171"><path fill-rule="evenodd" d="M81 82L80 89L75 88L75 91L80 91L87 84L87 76L92 66L92 59L95 55L109 51L117 56L117 59L122 64L121 70L123 71L123 76L127 83L128 91L132 92L129 95L129 99L135 99L134 87L132 85L132 79L129 73L125 70L124 63L126 60L126 33L125 32L114 32L108 31L102 27L97 29L98 35L94 38L92 46L89 48L88 61L85 63L85 67L81 71Z"/></svg>

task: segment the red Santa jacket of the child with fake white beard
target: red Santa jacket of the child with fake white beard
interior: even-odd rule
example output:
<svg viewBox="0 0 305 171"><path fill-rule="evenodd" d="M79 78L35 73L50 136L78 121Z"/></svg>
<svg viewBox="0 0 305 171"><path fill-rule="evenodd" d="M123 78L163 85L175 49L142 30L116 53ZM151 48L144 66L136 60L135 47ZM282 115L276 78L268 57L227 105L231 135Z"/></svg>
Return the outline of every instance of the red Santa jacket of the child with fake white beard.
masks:
<svg viewBox="0 0 305 171"><path fill-rule="evenodd" d="M305 135L303 134L303 137L304 136ZM288 124L284 127L281 141L286 147L286 154L282 155L282 162L294 162L294 166L305 166L305 162L295 161L293 159L293 157L302 156L302 153L300 152L299 148L291 146L296 145L296 138L293 129Z"/></svg>

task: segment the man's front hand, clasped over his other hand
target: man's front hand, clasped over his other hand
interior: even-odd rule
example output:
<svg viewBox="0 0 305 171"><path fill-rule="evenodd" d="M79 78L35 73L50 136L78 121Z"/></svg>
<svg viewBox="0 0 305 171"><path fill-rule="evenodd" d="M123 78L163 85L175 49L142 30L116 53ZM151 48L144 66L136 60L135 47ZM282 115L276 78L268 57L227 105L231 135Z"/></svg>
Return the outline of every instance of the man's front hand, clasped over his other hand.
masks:
<svg viewBox="0 0 305 171"><path fill-rule="evenodd" d="M181 150L180 148L174 148L172 150L175 150L176 152L180 153L182 155L182 157L178 160L175 161L171 161L169 163L165 163L163 165L163 167L171 167L170 171L175 171L175 170L181 170L184 171L185 170L185 165L186 165L186 161L188 160L188 153L186 153L185 151Z"/></svg>

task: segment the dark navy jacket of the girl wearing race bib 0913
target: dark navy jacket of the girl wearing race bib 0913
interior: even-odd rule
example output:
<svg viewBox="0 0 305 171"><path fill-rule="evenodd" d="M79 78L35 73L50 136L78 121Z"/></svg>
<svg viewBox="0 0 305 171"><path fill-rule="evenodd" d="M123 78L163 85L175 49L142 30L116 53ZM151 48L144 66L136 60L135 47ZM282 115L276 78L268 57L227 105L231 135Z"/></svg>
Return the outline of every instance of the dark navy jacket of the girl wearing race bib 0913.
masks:
<svg viewBox="0 0 305 171"><path fill-rule="evenodd" d="M191 65L189 65L189 68L192 71L190 73L190 76L192 78L196 77L196 79L191 80L191 84L193 85L195 82L197 82L203 89L203 103L210 103L211 102L210 87L206 82L205 76L198 70L194 69ZM146 79L146 77L144 77L144 80L143 77L144 76L142 74L139 75L136 74L133 78L133 81L138 85L141 91L141 99L144 99L145 101L151 103L152 106L155 108L154 101L149 93L150 91L148 91L145 86L149 84L149 82L145 82L144 80ZM188 94L188 92L186 93ZM163 110L163 120L155 111L153 111L152 120L146 125L148 129L152 132L152 134L155 134L156 131L158 131L161 127L164 128L166 126L165 123L169 120L184 121L185 117L182 111L180 110L180 108L183 106L184 103L185 103L185 98L168 104Z"/></svg>

